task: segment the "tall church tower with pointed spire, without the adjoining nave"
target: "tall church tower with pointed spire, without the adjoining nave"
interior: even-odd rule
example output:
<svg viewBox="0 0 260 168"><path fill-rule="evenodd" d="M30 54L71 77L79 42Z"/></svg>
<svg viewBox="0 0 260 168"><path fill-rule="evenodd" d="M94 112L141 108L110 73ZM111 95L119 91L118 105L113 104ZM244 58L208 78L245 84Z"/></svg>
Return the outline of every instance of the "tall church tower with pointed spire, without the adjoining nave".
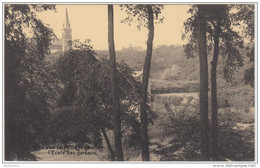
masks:
<svg viewBox="0 0 260 168"><path fill-rule="evenodd" d="M65 20L65 24L63 24L63 29L62 29L62 51L63 52L66 52L69 49L71 49L71 46L68 45L68 41L70 40L72 40L72 35L71 35L68 11L66 8L66 20Z"/></svg>

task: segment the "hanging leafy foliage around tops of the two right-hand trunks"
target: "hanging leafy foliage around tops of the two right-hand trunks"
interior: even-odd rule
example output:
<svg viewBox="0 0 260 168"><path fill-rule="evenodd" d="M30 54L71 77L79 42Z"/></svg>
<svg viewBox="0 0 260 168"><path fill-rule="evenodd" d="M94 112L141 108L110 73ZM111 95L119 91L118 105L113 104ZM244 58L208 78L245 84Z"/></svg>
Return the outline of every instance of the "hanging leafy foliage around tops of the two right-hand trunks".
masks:
<svg viewBox="0 0 260 168"><path fill-rule="evenodd" d="M220 55L225 60L223 75L228 82L232 81L232 75L237 71L237 68L243 66L241 49L244 47L239 32L232 29L232 26L235 26L236 23L234 22L235 18L231 13L231 9L233 9L233 5L224 5L223 7L221 5L207 5L206 11L208 54L210 54L213 48L217 19L222 17L220 27ZM189 42L185 45L184 51L188 58L193 58L198 52L199 18L197 5L192 5L189 13L192 16L184 23L185 31L183 33L183 39L187 38Z"/></svg>

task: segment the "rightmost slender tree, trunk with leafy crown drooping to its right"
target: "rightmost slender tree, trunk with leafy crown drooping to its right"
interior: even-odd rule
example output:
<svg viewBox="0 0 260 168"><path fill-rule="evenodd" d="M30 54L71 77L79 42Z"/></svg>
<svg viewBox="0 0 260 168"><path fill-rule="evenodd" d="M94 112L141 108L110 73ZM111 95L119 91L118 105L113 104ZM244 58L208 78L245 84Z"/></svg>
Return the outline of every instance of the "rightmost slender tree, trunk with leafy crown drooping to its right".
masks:
<svg viewBox="0 0 260 168"><path fill-rule="evenodd" d="M211 104L212 104L212 127L211 127L211 154L213 160L219 160L218 149L218 99L217 99L217 64L219 53L225 57L226 65L224 68L224 77L229 81L236 68L243 64L241 49L243 40L238 32L231 29L232 14L230 10L232 5L214 5L208 8L208 32L209 38L213 39L214 52L211 61Z"/></svg>

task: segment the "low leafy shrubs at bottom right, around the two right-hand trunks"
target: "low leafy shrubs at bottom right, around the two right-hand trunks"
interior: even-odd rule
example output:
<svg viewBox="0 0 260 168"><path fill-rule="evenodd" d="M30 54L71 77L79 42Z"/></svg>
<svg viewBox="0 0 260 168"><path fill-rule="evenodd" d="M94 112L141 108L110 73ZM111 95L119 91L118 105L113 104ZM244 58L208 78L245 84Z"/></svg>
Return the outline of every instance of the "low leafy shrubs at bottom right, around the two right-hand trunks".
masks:
<svg viewBox="0 0 260 168"><path fill-rule="evenodd" d="M197 102L198 103L198 102ZM162 161L198 160L199 145L199 112L196 101L192 97L184 103L175 98L165 108L167 113L158 117L156 132L169 139L166 143L154 142L155 154ZM169 108L170 107L170 108ZM168 110L167 110L168 109ZM219 116L219 147L221 160L249 161L254 160L254 126L248 124L239 127L241 116L237 112L226 109Z"/></svg>

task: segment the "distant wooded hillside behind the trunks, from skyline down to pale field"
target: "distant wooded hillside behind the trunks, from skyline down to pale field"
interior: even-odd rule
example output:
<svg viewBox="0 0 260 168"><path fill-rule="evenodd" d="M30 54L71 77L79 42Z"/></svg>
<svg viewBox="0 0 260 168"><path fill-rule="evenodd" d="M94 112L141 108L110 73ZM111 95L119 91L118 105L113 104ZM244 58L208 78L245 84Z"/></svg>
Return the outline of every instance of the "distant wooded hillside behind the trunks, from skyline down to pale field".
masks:
<svg viewBox="0 0 260 168"><path fill-rule="evenodd" d="M98 56L107 56L108 51L96 51ZM125 62L132 69L142 69L145 51L135 50L132 47L116 52L118 62ZM223 77L225 61L219 56L217 81L220 106L253 106L254 89L245 85L244 71L250 64L246 56L243 57L243 67L237 69L232 82L227 83ZM208 55L209 89L212 54ZM190 82L189 82L190 81ZM178 93L198 91L199 59L187 59L182 46L160 46L153 50L151 64L152 93ZM210 94L209 94L210 95Z"/></svg>

